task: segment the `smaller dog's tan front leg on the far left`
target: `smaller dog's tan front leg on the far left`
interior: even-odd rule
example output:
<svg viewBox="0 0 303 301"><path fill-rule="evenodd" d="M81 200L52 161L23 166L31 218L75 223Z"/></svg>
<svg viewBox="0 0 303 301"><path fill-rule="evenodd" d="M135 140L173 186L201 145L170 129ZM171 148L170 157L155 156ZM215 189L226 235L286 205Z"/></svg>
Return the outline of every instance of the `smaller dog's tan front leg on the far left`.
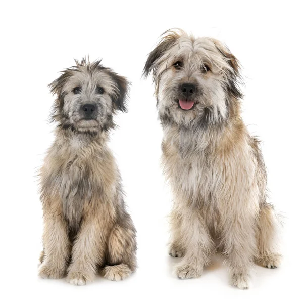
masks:
<svg viewBox="0 0 303 301"><path fill-rule="evenodd" d="M67 222L58 208L44 207L43 261L39 267L42 278L63 278L70 256Z"/></svg>

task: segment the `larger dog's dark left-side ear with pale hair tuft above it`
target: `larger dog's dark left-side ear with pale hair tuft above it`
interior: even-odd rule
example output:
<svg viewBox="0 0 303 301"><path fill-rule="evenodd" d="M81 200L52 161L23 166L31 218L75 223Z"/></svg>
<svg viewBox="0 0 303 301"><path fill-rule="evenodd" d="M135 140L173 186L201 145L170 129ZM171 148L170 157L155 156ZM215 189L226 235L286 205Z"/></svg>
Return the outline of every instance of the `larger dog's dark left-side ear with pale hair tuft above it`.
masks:
<svg viewBox="0 0 303 301"><path fill-rule="evenodd" d="M147 78L150 72L154 72L156 69L155 62L176 42L182 35L186 35L185 31L180 28L172 28L161 34L161 40L157 46L148 55L147 61L143 68L142 76Z"/></svg>

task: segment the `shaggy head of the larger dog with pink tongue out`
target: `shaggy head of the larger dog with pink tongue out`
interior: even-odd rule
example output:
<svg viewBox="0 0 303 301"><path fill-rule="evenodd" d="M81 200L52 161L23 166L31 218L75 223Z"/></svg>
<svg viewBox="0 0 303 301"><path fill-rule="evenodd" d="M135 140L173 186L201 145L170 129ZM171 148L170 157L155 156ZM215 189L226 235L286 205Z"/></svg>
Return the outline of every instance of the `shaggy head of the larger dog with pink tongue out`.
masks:
<svg viewBox="0 0 303 301"><path fill-rule="evenodd" d="M150 72L163 123L215 126L228 118L241 97L236 58L211 38L165 33L148 56L144 75Z"/></svg>

